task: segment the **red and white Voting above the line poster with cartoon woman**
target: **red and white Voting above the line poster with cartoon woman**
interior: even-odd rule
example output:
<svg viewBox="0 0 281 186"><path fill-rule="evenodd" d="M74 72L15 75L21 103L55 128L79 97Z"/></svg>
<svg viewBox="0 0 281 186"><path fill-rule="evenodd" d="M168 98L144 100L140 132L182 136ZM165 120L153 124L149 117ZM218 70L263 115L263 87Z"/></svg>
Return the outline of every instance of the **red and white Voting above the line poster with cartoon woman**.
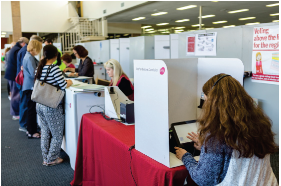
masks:
<svg viewBox="0 0 281 186"><path fill-rule="evenodd" d="M252 82L279 85L279 25L254 28Z"/></svg>

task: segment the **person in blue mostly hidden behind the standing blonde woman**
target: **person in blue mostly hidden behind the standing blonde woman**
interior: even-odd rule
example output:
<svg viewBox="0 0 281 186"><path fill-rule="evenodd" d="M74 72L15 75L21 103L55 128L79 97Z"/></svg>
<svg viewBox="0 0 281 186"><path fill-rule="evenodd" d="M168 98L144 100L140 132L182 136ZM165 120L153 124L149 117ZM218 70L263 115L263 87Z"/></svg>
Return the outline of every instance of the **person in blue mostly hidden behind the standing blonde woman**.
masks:
<svg viewBox="0 0 281 186"><path fill-rule="evenodd" d="M30 37L30 41L32 40L37 40L41 43L43 43L43 39L40 36L37 35L32 35ZM20 72L22 65L23 65L23 58L26 55L27 52L27 45L22 47L17 54L17 70L16 70L16 75ZM24 71L23 71L24 74ZM20 95L20 100L19 100L19 130L26 132L26 127L27 127L27 101L25 100L25 96L22 96L22 86L16 83L16 86L19 90L19 95Z"/></svg>

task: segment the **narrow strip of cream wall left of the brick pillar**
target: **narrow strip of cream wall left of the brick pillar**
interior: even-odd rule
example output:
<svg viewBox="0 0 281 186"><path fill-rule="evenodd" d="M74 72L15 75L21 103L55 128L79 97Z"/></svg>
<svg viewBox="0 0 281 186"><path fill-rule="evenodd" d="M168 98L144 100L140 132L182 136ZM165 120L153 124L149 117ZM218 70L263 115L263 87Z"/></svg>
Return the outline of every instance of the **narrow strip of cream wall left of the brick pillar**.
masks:
<svg viewBox="0 0 281 186"><path fill-rule="evenodd" d="M11 1L1 1L1 31L13 31Z"/></svg>

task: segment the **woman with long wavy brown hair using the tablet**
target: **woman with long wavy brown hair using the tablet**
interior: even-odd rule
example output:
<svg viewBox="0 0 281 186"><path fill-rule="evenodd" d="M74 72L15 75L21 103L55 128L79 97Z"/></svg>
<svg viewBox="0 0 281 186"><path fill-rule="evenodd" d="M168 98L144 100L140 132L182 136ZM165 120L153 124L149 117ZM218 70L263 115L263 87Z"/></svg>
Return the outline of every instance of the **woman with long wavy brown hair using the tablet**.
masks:
<svg viewBox="0 0 281 186"><path fill-rule="evenodd" d="M277 186L270 154L278 146L268 116L230 75L213 76L203 92L200 132L187 136L201 150L199 161L175 147L194 182L199 186Z"/></svg>

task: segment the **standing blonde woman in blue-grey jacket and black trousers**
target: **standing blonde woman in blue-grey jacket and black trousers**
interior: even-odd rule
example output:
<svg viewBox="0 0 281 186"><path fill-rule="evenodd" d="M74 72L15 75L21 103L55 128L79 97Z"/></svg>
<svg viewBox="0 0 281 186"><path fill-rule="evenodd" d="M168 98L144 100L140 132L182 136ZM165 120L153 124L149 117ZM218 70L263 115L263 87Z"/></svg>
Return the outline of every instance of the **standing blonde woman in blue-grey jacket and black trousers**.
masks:
<svg viewBox="0 0 281 186"><path fill-rule="evenodd" d="M36 121L36 102L31 100L31 94L34 86L35 69L38 66L38 60L34 57L40 53L42 43L37 40L32 40L27 45L27 52L23 58L23 84L22 97L27 105L27 132L28 138L40 138L41 135L37 132Z"/></svg>

